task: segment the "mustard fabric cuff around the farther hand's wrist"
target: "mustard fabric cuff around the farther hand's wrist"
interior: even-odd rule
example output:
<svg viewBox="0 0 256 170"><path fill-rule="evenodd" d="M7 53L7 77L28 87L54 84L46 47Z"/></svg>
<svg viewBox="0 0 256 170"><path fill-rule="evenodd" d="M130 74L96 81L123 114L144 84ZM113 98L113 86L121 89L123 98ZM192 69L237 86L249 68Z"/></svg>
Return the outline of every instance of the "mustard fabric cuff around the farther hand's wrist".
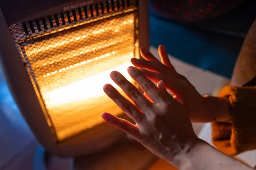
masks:
<svg viewBox="0 0 256 170"><path fill-rule="evenodd" d="M232 123L212 123L216 148L230 156L256 149L256 86L227 86L219 97L229 98Z"/></svg>

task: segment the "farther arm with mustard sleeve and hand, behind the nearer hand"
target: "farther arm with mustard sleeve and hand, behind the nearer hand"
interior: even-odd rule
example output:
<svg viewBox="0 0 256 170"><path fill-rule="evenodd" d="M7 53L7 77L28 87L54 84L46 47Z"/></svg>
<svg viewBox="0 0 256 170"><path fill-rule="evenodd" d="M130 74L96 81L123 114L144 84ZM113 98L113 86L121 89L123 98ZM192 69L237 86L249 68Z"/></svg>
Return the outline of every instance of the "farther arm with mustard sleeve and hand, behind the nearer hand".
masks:
<svg viewBox="0 0 256 170"><path fill-rule="evenodd" d="M244 84L252 86L249 81L256 76L256 21L244 41L232 77L232 85L241 88L224 88L226 94L218 97L202 97L184 76L176 72L162 45L158 51L162 63L142 49L145 60L132 59L132 64L143 68L142 73L153 82L163 80L166 89L184 104L192 122L214 122L212 140L222 152L233 156L256 149L256 94L253 88L241 87Z"/></svg>

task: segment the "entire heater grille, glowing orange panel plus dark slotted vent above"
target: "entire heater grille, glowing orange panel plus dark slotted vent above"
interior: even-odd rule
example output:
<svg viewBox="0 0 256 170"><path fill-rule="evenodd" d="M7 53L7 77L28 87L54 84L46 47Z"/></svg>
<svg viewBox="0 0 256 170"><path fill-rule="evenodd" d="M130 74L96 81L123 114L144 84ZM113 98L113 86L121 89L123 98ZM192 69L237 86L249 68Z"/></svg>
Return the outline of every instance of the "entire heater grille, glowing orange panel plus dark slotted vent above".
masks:
<svg viewBox="0 0 256 170"><path fill-rule="evenodd" d="M9 27L58 141L102 123L103 111L122 113L102 87L111 70L133 82L137 12L135 0L112 0Z"/></svg>

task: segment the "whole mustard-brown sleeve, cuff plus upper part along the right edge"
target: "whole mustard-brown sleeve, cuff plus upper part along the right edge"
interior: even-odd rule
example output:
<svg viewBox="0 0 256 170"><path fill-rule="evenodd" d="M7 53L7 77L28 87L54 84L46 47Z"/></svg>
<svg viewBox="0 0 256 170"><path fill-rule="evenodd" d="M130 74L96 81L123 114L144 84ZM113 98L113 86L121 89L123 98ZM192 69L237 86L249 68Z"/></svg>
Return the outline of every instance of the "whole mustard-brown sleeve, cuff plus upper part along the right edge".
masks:
<svg viewBox="0 0 256 170"><path fill-rule="evenodd" d="M234 156L256 149L256 20L246 35L230 85L219 97L229 98L232 123L212 123L212 141L217 149Z"/></svg>

